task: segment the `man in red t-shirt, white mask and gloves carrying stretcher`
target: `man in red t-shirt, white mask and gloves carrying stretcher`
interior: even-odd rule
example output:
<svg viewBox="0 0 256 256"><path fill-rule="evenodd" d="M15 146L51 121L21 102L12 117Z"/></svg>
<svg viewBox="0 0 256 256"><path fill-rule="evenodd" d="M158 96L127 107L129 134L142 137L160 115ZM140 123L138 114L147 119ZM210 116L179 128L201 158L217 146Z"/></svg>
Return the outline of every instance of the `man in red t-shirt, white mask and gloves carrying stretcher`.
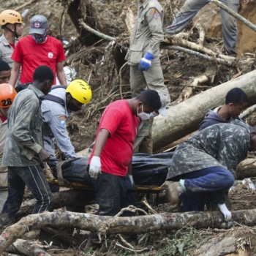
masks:
<svg viewBox="0 0 256 256"><path fill-rule="evenodd" d="M136 191L132 187L132 154L139 119L146 120L151 113L162 111L166 109L155 90L118 100L105 109L89 158L89 174L96 178L98 214L114 216L121 208L137 206ZM123 214L132 215L129 211Z"/></svg>

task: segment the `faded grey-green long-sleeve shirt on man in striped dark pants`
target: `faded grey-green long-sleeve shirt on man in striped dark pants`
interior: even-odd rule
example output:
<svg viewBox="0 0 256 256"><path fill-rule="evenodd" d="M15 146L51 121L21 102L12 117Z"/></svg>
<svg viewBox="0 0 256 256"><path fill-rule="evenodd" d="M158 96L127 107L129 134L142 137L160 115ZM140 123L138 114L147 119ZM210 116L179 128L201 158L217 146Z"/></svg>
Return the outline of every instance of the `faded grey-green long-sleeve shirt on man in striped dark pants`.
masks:
<svg viewBox="0 0 256 256"><path fill-rule="evenodd" d="M8 113L8 132L2 165L31 166L39 164L42 149L42 111L44 94L30 85L15 97Z"/></svg>

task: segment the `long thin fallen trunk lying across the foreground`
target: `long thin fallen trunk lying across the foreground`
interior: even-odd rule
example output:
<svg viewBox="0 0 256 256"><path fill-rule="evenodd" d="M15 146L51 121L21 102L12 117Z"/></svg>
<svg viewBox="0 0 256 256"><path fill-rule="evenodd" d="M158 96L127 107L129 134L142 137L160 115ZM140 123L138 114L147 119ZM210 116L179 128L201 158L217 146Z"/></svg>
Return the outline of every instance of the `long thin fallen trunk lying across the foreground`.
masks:
<svg viewBox="0 0 256 256"><path fill-rule="evenodd" d="M233 221L240 225L254 226L256 209L233 211L232 217ZM70 211L46 212L31 214L15 225L7 227L0 236L0 253L32 228L39 229L45 226L72 226L105 235L106 233L148 233L155 230L173 230L188 224L196 228L228 228L236 225L235 222L225 222L219 211L166 213L138 217L107 217Z"/></svg>

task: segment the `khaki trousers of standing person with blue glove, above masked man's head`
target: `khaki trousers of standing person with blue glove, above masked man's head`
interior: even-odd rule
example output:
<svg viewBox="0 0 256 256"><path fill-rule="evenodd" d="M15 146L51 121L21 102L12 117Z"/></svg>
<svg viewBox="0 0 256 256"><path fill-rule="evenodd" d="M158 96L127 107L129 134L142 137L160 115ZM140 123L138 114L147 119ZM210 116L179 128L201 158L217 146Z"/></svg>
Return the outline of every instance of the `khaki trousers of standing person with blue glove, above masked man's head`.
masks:
<svg viewBox="0 0 256 256"><path fill-rule="evenodd" d="M164 84L164 76L162 75L162 67L160 64L152 62L148 71L141 72L138 65L130 66L129 82L132 89L132 97L138 96L140 92L146 89L158 90L166 97L166 106L170 105L170 94Z"/></svg>

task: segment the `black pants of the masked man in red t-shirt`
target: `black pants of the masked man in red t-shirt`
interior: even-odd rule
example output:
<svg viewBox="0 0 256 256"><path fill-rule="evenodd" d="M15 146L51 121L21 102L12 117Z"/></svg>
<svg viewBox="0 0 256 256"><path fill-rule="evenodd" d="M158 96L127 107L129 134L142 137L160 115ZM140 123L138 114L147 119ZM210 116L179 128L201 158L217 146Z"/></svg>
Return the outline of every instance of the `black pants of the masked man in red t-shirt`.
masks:
<svg viewBox="0 0 256 256"><path fill-rule="evenodd" d="M127 176L116 176L102 172L95 184L96 203L99 204L99 215L115 216L127 206L137 207L137 193ZM124 211L122 216L131 217L135 213Z"/></svg>

